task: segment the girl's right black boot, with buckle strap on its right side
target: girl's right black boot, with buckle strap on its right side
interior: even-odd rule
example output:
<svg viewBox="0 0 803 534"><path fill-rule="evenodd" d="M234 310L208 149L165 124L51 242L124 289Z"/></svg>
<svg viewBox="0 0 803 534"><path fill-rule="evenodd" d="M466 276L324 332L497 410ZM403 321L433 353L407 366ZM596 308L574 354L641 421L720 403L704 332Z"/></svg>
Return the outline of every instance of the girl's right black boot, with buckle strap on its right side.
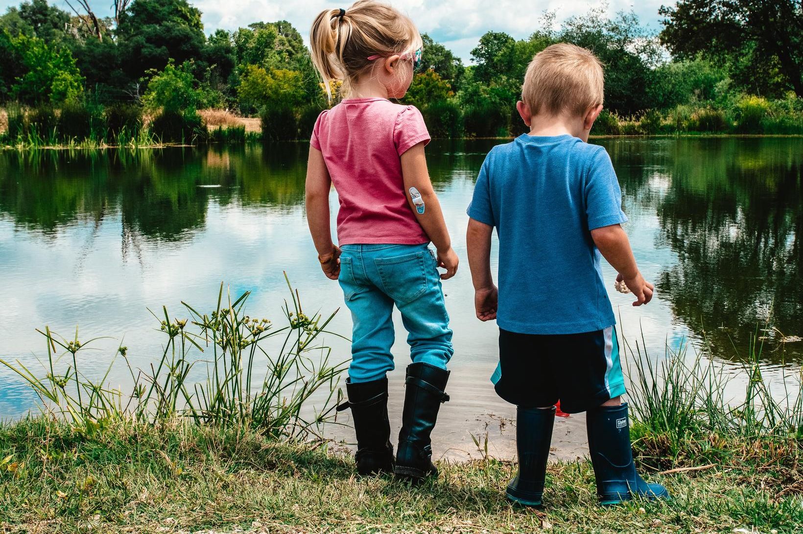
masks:
<svg viewBox="0 0 803 534"><path fill-rule="evenodd" d="M432 464L430 434L441 403L449 400L449 395L443 391L448 380L449 371L434 365L407 366L402 431L393 469L397 475L419 480L438 476L438 469Z"/></svg>

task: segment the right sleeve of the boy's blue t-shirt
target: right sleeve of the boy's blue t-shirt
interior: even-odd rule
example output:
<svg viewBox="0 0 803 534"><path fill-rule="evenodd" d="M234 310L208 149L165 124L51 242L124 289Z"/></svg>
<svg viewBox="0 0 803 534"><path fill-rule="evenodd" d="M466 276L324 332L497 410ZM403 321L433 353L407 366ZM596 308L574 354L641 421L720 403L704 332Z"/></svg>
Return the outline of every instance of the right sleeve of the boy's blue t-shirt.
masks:
<svg viewBox="0 0 803 534"><path fill-rule="evenodd" d="M597 150L591 160L584 193L589 230L627 222L622 211L622 190L605 149Z"/></svg>

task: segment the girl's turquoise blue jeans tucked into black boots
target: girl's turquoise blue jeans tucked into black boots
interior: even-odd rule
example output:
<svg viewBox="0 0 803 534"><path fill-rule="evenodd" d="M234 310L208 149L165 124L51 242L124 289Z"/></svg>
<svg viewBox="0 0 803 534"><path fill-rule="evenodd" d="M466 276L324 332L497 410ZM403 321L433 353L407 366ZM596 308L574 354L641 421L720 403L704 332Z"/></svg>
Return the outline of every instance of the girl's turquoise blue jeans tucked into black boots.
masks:
<svg viewBox="0 0 803 534"><path fill-rule="evenodd" d="M422 245L344 245L340 287L352 312L353 383L393 370L393 304L409 332L410 358L446 369L454 353L434 256Z"/></svg>

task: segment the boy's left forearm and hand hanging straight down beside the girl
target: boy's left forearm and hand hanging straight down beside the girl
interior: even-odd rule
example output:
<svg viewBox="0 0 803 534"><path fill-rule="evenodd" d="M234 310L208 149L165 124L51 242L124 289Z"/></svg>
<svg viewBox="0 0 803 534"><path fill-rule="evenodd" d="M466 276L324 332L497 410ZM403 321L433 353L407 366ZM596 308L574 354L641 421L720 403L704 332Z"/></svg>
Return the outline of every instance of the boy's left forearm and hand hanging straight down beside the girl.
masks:
<svg viewBox="0 0 803 534"><path fill-rule="evenodd" d="M482 321L496 319L499 291L491 274L491 234L493 226L473 218L468 220L466 242L468 246L468 267L474 283L474 308L477 318Z"/></svg>

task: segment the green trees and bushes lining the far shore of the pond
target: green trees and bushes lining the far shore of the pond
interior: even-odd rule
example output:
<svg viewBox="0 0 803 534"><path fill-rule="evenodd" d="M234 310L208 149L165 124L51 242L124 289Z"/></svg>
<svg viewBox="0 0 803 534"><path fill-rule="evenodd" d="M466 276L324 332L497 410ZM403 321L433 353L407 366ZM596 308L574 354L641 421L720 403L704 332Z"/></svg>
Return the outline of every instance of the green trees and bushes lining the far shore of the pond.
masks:
<svg viewBox="0 0 803 534"><path fill-rule="evenodd" d="M115 5L114 18L89 2L69 14L46 0L0 15L0 146L294 141L340 98L337 87L331 102L324 94L287 21L206 35L187 0ZM661 8L660 31L605 7L560 24L547 12L525 39L488 31L469 65L425 34L401 104L421 109L434 138L516 137L526 130L516 100L530 59L565 42L605 64L593 136L803 135L803 65L789 51L797 26L760 23L803 16L780 9L739 0L719 13L679 0Z"/></svg>

